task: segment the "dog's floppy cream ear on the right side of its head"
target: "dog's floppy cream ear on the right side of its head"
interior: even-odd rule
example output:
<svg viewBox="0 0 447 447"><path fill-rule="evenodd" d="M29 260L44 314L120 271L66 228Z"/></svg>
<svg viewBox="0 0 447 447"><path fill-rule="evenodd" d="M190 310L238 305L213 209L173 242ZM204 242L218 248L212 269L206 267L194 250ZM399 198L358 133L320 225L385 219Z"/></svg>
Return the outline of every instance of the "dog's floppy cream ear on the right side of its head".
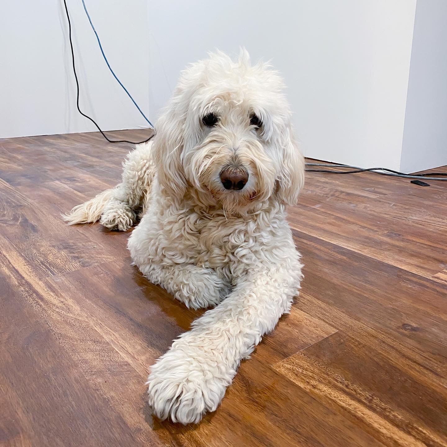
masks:
<svg viewBox="0 0 447 447"><path fill-rule="evenodd" d="M291 125L283 132L283 162L278 179L277 194L281 202L295 205L304 185L304 157L298 148Z"/></svg>

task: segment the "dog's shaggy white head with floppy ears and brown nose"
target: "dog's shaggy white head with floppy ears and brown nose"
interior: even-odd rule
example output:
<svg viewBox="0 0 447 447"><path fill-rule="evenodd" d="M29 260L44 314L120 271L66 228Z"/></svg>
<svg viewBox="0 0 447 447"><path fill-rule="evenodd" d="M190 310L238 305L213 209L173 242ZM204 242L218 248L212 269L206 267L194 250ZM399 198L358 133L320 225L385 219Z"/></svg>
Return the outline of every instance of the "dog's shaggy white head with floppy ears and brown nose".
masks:
<svg viewBox="0 0 447 447"><path fill-rule="evenodd" d="M249 210L276 194L295 203L304 160L284 84L268 64L218 52L192 64L156 126L160 185L173 197L192 187L205 205Z"/></svg>

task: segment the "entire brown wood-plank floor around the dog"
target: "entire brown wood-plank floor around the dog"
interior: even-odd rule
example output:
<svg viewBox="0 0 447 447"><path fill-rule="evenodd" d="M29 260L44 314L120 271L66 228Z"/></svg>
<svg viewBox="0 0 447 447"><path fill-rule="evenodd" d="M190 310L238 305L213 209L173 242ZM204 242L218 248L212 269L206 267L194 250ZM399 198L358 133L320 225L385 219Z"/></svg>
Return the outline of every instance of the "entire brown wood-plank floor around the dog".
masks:
<svg viewBox="0 0 447 447"><path fill-rule="evenodd" d="M130 266L127 234L59 217L115 185L128 149L0 140L2 446L447 446L445 183L308 174L302 293L184 427L152 420L144 381L200 312Z"/></svg>

